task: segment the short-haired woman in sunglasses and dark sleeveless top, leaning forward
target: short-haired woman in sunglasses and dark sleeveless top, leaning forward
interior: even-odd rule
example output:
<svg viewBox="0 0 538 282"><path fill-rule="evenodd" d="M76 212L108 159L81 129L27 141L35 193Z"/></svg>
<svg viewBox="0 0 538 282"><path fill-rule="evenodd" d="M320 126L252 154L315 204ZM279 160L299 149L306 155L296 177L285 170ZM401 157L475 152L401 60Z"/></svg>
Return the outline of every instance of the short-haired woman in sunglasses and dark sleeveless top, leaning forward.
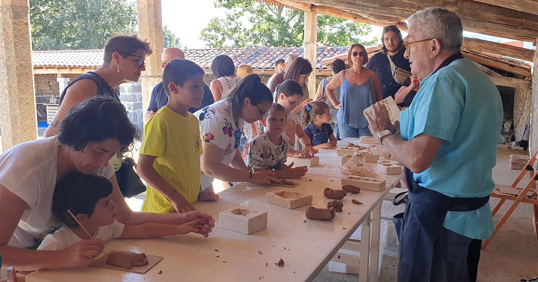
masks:
<svg viewBox="0 0 538 282"><path fill-rule="evenodd" d="M45 137L58 134L58 126L71 107L93 96L109 96L119 100L116 88L125 82L137 82L146 70L144 60L152 52L150 44L136 35L116 35L104 46L103 65L85 73L63 89L58 112L45 131Z"/></svg>

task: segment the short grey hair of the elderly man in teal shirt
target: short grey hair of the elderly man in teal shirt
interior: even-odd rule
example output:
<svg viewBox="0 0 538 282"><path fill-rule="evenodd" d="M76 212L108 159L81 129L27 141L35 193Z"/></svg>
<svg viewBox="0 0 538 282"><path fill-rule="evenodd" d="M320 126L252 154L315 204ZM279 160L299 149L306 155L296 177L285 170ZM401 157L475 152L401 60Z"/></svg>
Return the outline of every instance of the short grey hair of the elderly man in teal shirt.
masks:
<svg viewBox="0 0 538 282"><path fill-rule="evenodd" d="M415 25L423 39L436 38L441 50L458 52L463 43L462 18L457 13L440 7L417 11L408 19L409 26Z"/></svg>

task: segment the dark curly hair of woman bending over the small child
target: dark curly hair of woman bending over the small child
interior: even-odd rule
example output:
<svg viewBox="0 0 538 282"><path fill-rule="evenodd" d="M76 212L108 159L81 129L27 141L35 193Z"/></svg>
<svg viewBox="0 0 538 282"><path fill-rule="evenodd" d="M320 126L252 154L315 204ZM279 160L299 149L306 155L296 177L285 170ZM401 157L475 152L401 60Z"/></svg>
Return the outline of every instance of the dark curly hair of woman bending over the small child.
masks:
<svg viewBox="0 0 538 282"><path fill-rule="evenodd" d="M129 121L127 111L115 98L95 96L71 108L60 123L58 140L75 151L84 150L90 142L101 143L114 138L122 148L118 157L131 151L140 133Z"/></svg>

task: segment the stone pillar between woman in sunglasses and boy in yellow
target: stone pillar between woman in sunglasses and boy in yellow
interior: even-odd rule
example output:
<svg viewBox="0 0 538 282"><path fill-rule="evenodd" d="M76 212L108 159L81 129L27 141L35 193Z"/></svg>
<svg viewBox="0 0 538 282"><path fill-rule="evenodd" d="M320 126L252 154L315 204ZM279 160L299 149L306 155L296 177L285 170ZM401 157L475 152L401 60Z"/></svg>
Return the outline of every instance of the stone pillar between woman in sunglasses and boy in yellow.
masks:
<svg viewBox="0 0 538 282"><path fill-rule="evenodd" d="M141 39L149 41L153 50L153 53L146 57L146 71L140 77L142 107L147 109L153 87L162 81L161 54L164 43L161 0L137 0L137 11L138 35Z"/></svg>

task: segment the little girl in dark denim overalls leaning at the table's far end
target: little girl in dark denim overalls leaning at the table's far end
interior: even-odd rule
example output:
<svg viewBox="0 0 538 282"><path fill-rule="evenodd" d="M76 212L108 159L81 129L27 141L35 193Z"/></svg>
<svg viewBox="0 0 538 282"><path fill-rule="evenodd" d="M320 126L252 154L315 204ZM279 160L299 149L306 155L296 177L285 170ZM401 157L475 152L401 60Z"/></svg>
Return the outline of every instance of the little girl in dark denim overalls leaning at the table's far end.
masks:
<svg viewBox="0 0 538 282"><path fill-rule="evenodd" d="M323 101L306 105L303 110L301 122L306 124L305 133L316 150L332 149L336 146L336 138L329 125L331 120L329 111L329 105Z"/></svg>

